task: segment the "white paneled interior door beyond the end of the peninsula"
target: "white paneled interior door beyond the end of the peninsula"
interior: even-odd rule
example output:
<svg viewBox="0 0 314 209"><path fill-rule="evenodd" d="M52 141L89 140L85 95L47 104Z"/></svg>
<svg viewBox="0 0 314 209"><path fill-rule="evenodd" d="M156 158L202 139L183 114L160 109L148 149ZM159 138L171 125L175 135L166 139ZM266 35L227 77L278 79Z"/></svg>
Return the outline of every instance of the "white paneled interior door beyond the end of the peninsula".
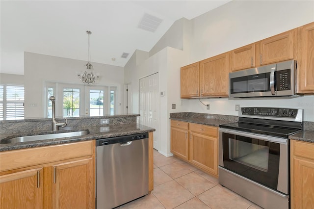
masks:
<svg viewBox="0 0 314 209"><path fill-rule="evenodd" d="M139 80L140 86L140 101L139 113L140 123L156 129L154 131L154 148L159 149L159 75L158 73L151 76L141 78Z"/></svg>

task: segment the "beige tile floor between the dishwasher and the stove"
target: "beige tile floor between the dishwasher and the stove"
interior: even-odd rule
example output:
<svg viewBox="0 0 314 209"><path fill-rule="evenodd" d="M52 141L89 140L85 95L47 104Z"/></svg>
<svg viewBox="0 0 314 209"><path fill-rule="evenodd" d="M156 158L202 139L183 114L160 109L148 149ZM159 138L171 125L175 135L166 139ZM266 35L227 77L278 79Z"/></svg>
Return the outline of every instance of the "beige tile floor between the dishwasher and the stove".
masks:
<svg viewBox="0 0 314 209"><path fill-rule="evenodd" d="M261 209L218 179L154 150L154 190L118 209Z"/></svg>

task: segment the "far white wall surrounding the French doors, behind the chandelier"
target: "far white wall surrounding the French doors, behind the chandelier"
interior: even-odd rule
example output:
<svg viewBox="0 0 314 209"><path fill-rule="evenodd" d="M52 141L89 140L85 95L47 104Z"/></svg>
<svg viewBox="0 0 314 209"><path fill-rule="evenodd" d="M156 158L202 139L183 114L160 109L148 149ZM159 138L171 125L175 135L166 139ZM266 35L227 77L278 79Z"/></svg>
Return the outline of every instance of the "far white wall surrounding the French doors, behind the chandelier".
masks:
<svg viewBox="0 0 314 209"><path fill-rule="evenodd" d="M45 81L82 84L76 71L86 70L86 63L83 60L25 52L25 117L44 117ZM123 67L91 63L94 67L94 73L99 72L101 75L95 85L117 86L117 95L119 95L117 113L123 113ZM121 105L119 105L120 103Z"/></svg>

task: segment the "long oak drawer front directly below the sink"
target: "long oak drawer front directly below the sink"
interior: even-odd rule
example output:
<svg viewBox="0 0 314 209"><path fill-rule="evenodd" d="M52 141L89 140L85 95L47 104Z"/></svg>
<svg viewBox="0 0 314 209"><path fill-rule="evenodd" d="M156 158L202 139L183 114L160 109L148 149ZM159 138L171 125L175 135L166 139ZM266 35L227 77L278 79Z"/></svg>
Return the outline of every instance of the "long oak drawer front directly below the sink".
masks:
<svg viewBox="0 0 314 209"><path fill-rule="evenodd" d="M0 171L93 155L93 141L0 152Z"/></svg>

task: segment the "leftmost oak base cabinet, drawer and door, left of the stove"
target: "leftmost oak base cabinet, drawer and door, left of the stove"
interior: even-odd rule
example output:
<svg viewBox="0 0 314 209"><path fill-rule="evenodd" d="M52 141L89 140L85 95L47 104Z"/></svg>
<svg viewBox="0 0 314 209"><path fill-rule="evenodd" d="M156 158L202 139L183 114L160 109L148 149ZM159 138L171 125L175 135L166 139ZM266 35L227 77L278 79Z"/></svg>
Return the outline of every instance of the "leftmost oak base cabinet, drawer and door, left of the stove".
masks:
<svg viewBox="0 0 314 209"><path fill-rule="evenodd" d="M171 153L188 160L188 123L171 120Z"/></svg>

